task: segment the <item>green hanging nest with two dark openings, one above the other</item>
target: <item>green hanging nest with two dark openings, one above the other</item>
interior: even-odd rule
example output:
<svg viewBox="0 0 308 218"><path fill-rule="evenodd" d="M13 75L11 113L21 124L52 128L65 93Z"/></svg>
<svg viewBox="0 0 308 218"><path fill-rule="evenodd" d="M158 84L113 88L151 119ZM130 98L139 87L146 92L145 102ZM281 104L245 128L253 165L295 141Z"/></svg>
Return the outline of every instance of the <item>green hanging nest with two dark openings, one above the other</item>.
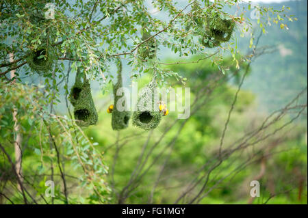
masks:
<svg viewBox="0 0 308 218"><path fill-rule="evenodd" d="M74 117L78 126L97 124L98 115L92 99L90 83L86 77L81 81L81 73L77 70L75 84L70 90L69 100L74 106Z"/></svg>

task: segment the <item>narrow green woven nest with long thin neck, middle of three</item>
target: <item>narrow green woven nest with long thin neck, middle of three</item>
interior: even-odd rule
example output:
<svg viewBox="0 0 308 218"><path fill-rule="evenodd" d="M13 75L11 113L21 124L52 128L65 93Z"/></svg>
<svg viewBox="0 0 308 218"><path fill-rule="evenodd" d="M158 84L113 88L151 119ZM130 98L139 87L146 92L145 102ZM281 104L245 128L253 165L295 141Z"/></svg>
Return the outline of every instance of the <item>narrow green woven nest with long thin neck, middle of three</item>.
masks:
<svg viewBox="0 0 308 218"><path fill-rule="evenodd" d="M115 85L113 85L114 88L114 107L112 109L112 128L115 131L120 131L121 129L127 128L129 124L129 119L131 118L130 111L118 111L117 109L117 103L120 98L125 98L124 94L121 96L117 96L116 92L118 91L118 88L123 86L122 82L122 62L120 60L118 61L118 81ZM125 101L127 99L125 98ZM125 107L125 105L122 105ZM127 108L125 108L127 110Z"/></svg>

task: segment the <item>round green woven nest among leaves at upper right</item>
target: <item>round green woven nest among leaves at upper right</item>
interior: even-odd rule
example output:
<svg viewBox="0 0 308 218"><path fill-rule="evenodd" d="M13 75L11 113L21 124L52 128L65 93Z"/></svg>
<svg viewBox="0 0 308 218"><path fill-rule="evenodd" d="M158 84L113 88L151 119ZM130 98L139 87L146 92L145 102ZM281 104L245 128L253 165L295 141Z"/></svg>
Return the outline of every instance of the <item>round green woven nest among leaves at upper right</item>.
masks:
<svg viewBox="0 0 308 218"><path fill-rule="evenodd" d="M214 18L207 17L201 43L208 48L214 48L223 42L229 42L234 27L235 21L231 18L223 18L219 15L214 16Z"/></svg>

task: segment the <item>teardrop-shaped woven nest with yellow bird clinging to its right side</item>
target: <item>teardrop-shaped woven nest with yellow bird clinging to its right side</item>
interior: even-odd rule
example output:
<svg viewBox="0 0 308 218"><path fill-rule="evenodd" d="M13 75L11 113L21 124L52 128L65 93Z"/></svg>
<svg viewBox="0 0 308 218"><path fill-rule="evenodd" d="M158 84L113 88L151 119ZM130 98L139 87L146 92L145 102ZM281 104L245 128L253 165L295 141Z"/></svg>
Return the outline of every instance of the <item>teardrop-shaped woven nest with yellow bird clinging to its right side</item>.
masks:
<svg viewBox="0 0 308 218"><path fill-rule="evenodd" d="M147 85L148 89L138 98L137 110L133 112L133 125L149 131L156 128L162 119L156 103L155 87L157 87L156 78ZM157 96L157 95L156 95Z"/></svg>

